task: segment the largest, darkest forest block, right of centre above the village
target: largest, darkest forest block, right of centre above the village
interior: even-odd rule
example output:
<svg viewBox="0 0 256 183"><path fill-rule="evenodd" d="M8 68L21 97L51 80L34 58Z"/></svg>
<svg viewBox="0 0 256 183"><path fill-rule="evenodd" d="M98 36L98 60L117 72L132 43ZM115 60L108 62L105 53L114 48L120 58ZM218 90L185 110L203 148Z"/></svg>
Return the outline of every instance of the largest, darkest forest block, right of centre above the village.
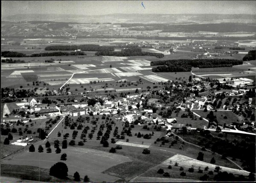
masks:
<svg viewBox="0 0 256 183"><path fill-rule="evenodd" d="M152 68L153 72L188 72L192 67L195 68L219 68L241 65L243 61L236 59L178 59L178 60L160 60L151 62L150 65L160 65Z"/></svg>

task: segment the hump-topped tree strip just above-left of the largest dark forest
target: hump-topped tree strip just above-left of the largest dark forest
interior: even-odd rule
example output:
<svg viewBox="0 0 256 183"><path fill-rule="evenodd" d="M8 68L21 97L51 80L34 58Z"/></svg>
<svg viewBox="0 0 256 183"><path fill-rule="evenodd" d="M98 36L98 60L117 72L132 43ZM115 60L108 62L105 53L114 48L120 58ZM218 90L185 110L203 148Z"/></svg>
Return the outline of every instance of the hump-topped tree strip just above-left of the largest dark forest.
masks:
<svg viewBox="0 0 256 183"><path fill-rule="evenodd" d="M151 53L143 52L141 48L132 47L122 49L121 51L98 51L95 53L97 56L155 56L157 58L163 58L163 53Z"/></svg>

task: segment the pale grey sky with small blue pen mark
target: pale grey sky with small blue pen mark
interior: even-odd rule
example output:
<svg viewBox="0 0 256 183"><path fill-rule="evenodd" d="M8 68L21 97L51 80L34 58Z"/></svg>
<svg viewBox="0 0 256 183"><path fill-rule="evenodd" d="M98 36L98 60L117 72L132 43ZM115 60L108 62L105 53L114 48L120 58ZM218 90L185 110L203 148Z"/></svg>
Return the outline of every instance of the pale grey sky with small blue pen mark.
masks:
<svg viewBox="0 0 256 183"><path fill-rule="evenodd" d="M142 6L142 2L144 7ZM1 14L256 14L255 1L243 0L22 0L1 1Z"/></svg>

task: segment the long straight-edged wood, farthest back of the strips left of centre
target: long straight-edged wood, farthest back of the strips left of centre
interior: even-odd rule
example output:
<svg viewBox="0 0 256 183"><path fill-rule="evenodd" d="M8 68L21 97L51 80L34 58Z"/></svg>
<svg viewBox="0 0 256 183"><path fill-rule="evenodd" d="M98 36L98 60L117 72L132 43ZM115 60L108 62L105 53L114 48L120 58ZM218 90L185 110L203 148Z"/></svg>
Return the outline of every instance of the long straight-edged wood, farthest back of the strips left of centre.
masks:
<svg viewBox="0 0 256 183"><path fill-rule="evenodd" d="M46 51L114 51L113 46L100 45L52 45L44 48Z"/></svg>

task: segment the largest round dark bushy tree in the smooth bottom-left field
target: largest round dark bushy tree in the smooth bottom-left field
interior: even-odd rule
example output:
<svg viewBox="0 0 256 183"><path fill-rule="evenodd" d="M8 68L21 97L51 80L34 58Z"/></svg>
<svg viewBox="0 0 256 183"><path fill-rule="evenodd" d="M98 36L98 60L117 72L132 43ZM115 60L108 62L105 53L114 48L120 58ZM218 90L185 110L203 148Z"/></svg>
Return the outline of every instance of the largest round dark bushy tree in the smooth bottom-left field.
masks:
<svg viewBox="0 0 256 183"><path fill-rule="evenodd" d="M65 179L67 177L67 172L68 172L67 165L62 162L55 163L50 168L50 175L61 178L61 179Z"/></svg>

